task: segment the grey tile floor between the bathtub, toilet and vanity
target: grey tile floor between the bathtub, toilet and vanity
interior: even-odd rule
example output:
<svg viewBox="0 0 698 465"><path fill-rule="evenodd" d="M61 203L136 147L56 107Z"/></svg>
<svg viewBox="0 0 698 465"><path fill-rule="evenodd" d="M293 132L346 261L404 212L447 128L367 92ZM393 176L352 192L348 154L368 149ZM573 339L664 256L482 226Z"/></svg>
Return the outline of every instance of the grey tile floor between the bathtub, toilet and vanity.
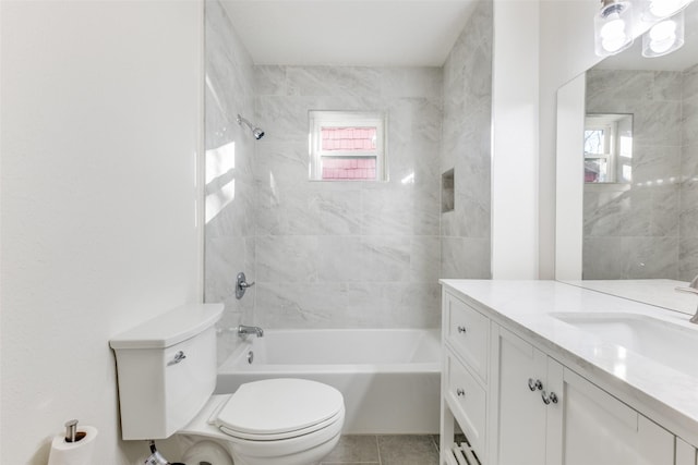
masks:
<svg viewBox="0 0 698 465"><path fill-rule="evenodd" d="M342 436L321 465L438 465L438 437Z"/></svg>

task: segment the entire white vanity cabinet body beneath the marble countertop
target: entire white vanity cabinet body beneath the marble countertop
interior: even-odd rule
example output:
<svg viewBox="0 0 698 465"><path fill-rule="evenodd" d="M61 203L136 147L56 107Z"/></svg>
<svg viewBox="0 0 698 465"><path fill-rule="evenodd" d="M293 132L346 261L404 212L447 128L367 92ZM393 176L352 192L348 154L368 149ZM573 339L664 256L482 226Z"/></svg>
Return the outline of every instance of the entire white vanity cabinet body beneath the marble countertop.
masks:
<svg viewBox="0 0 698 465"><path fill-rule="evenodd" d="M458 426L477 455L471 465L697 465L693 446L486 308L447 291L443 303L442 465L461 463L452 451Z"/></svg>

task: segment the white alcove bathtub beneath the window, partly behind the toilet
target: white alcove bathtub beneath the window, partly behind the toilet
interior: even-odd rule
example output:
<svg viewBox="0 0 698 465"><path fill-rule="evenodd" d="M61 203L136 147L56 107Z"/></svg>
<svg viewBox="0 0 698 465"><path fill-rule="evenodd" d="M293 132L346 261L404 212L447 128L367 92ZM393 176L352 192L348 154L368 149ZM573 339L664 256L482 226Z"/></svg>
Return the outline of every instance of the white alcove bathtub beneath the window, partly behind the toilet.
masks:
<svg viewBox="0 0 698 465"><path fill-rule="evenodd" d="M268 330L218 368L216 393L266 378L304 378L345 396L345 433L438 432L438 330Z"/></svg>

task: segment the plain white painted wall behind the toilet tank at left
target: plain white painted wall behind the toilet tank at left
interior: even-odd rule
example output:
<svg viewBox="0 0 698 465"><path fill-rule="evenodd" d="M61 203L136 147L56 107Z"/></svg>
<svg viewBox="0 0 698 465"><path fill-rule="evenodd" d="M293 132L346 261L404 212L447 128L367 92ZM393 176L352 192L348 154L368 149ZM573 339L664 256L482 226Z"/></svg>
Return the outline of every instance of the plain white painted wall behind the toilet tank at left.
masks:
<svg viewBox="0 0 698 465"><path fill-rule="evenodd" d="M198 1L3 1L2 464L70 418L119 440L109 339L200 302Z"/></svg>

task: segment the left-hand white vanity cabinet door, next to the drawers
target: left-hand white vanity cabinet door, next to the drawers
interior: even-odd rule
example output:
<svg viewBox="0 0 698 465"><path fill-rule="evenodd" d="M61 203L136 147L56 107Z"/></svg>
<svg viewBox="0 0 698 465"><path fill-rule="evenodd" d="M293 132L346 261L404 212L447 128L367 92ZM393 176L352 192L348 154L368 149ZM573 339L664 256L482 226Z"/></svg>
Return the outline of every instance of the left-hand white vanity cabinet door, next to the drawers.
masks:
<svg viewBox="0 0 698 465"><path fill-rule="evenodd" d="M535 386L545 382L547 356L531 344L498 328L496 352L498 374L495 399L498 465L542 465L545 463L545 404ZM529 389L529 379L532 390ZM587 464L588 465L588 464Z"/></svg>

